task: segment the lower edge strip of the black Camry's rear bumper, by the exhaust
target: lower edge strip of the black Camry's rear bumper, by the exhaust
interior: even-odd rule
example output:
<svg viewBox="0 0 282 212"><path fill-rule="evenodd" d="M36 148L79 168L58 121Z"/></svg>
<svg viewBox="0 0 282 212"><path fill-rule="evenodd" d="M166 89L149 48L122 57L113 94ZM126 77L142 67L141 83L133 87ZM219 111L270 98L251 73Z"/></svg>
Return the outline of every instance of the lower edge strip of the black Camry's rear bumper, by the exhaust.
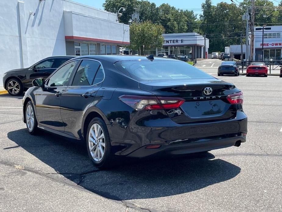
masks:
<svg viewBox="0 0 282 212"><path fill-rule="evenodd" d="M240 135L208 141L187 142L187 144L166 144L155 149L146 149L147 146L143 146L127 155L127 157L143 158L157 155L182 155L195 152L205 152L213 149L231 147L234 146L236 142L240 144L241 142L246 142L246 136Z"/></svg>

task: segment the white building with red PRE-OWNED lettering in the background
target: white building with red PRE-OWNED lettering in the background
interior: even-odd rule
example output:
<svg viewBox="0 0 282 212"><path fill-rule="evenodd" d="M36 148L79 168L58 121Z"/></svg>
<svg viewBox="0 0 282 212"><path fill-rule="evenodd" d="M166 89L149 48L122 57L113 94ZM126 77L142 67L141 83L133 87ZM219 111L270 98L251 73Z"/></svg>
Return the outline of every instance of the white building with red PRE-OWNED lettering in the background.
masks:
<svg viewBox="0 0 282 212"><path fill-rule="evenodd" d="M267 26L271 29L264 30L262 44L262 27L255 27L254 30L254 60L281 60L282 57L282 26ZM256 30L257 29L257 30ZM262 58L263 45L263 58ZM234 55L234 58L240 59L241 45L231 45L225 47L225 52ZM246 46L243 45L243 55L245 58Z"/></svg>

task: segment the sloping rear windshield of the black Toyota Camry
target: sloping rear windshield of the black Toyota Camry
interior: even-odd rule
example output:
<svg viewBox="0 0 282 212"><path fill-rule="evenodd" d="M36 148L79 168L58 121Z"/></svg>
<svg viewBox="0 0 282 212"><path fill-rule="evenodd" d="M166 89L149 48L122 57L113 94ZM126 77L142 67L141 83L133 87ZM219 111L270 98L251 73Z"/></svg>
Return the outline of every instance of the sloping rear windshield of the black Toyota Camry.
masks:
<svg viewBox="0 0 282 212"><path fill-rule="evenodd" d="M177 60L125 60L115 63L124 74L137 81L164 79L214 79L194 66Z"/></svg>

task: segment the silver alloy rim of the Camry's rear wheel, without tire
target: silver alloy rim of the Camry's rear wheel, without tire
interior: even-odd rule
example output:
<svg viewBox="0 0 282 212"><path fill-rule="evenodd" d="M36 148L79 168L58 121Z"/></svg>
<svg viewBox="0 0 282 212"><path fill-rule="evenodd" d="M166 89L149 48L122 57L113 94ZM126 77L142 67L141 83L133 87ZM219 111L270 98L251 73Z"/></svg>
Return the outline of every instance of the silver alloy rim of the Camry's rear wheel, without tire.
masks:
<svg viewBox="0 0 282 212"><path fill-rule="evenodd" d="M102 127L99 124L93 124L89 131L88 147L92 158L99 162L103 159L105 153L105 137Z"/></svg>

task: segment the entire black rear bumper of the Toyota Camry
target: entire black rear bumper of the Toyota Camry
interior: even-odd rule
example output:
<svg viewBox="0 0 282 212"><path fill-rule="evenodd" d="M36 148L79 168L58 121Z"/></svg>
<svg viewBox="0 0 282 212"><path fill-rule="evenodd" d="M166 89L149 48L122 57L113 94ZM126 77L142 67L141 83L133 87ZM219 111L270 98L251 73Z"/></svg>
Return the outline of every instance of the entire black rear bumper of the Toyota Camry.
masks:
<svg viewBox="0 0 282 212"><path fill-rule="evenodd" d="M248 120L243 111L237 111L234 119L216 122L177 124L171 119L152 122L151 127L137 125L136 120L126 128L108 126L115 154L141 158L162 153L176 155L234 146L236 141L246 141L242 134L247 133ZM161 126L162 123L167 125ZM160 147L146 149L148 145Z"/></svg>

